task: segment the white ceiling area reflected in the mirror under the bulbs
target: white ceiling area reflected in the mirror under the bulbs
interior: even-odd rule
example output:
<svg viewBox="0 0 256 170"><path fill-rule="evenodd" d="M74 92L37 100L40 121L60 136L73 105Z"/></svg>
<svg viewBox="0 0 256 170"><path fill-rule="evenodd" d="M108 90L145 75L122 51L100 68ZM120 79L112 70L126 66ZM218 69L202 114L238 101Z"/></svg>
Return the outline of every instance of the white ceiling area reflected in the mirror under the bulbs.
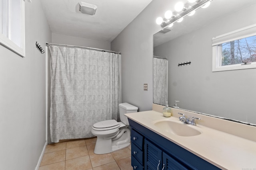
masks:
<svg viewBox="0 0 256 170"><path fill-rule="evenodd" d="M231 14L252 4L256 4L256 0L213 0L208 8L200 8L193 16L186 16L182 22L174 23L174 26L170 28L171 31L167 33L156 33L154 35L154 47L190 33L222 16ZM170 10L174 11L173 9ZM246 20L248 18L245 17L244 19Z"/></svg>

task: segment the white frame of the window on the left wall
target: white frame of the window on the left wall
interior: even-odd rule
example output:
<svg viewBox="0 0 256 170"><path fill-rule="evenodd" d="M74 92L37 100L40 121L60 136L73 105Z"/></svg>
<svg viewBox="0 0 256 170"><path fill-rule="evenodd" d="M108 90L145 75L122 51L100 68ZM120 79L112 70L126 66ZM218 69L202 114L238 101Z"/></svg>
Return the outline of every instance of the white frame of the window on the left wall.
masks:
<svg viewBox="0 0 256 170"><path fill-rule="evenodd" d="M11 32L10 32L10 29L11 29L11 7L10 7L10 0L8 0L8 3L9 3L9 6L8 6L8 12L9 12L9 15L8 15L8 29L9 29L9 36L6 37L4 36L2 33L0 33L0 45L10 49L11 51L13 51L14 53L20 55L21 57L25 57L25 2L24 0L20 0L20 26L21 26L21 31L20 31L20 34L21 34L21 42L20 42L20 45L21 47L19 47L18 45L16 45L12 40L9 39L9 37L11 37ZM2 14L1 14L2 15Z"/></svg>

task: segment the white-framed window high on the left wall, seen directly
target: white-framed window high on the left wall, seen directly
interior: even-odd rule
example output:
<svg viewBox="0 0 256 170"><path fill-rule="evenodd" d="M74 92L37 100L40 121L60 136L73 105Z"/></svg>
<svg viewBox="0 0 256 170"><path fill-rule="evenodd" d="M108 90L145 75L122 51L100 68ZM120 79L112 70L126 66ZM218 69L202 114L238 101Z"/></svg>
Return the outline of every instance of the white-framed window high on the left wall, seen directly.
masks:
<svg viewBox="0 0 256 170"><path fill-rule="evenodd" d="M25 57L24 0L0 0L0 44Z"/></svg>

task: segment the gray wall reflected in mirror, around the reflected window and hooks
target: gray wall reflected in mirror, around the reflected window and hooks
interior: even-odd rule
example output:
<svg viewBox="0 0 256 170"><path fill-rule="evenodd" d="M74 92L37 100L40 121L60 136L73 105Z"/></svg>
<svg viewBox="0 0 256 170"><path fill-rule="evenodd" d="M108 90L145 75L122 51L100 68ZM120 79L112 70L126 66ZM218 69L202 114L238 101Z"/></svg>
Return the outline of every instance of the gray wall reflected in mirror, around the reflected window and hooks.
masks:
<svg viewBox="0 0 256 170"><path fill-rule="evenodd" d="M256 68L212 72L212 37L256 23L256 5L154 48L168 57L168 101L183 109L256 124ZM244 16L249 16L248 18ZM191 61L188 66L178 63ZM171 105L172 104L172 105Z"/></svg>

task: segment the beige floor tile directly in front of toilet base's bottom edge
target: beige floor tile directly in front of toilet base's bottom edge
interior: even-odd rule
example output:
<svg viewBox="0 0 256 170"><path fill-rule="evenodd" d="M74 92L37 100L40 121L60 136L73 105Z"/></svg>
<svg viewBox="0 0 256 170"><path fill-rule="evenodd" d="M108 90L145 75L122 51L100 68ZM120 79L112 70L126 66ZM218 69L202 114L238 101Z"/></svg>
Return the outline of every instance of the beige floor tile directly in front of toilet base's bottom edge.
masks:
<svg viewBox="0 0 256 170"><path fill-rule="evenodd" d="M108 154L90 154L90 159L92 162L92 168L108 164L110 162L115 162L113 156Z"/></svg>

